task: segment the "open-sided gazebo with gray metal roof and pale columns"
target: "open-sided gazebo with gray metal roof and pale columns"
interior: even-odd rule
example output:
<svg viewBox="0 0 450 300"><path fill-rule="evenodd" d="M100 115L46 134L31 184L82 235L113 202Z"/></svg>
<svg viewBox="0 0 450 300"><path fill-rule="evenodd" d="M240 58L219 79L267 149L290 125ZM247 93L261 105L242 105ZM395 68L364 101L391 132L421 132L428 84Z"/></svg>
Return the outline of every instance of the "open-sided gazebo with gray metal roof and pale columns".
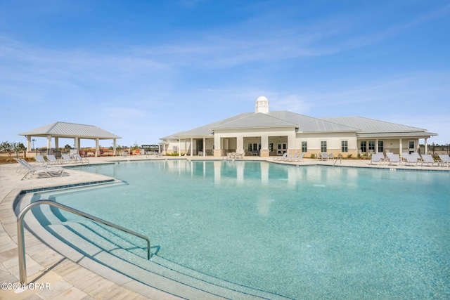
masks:
<svg viewBox="0 0 450 300"><path fill-rule="evenodd" d="M41 126L37 129L19 133L19 136L27 137L27 151L31 150L32 137L46 137L47 149L52 148L51 138L54 138L55 148L58 148L58 138L73 138L75 140L75 149L77 150L79 150L80 140L82 138L95 140L96 156L98 156L100 152L100 140L113 140L113 155L116 155L115 148L117 145L117 138L121 138L120 136L116 136L113 133L98 128L97 126L65 122L55 122L52 124Z"/></svg>

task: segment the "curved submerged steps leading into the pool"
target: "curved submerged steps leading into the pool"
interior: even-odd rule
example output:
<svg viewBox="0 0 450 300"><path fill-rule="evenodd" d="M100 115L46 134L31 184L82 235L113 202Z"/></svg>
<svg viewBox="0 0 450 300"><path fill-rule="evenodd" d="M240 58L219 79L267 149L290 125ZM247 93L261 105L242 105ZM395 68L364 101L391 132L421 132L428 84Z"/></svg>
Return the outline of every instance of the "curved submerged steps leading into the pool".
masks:
<svg viewBox="0 0 450 300"><path fill-rule="evenodd" d="M158 255L148 261L145 242L139 238L122 237L115 230L89 220L65 221L49 206L41 206L41 213L38 212L39 220L44 227L77 252L170 294L188 299L288 299L198 273ZM150 247L154 254L151 237Z"/></svg>

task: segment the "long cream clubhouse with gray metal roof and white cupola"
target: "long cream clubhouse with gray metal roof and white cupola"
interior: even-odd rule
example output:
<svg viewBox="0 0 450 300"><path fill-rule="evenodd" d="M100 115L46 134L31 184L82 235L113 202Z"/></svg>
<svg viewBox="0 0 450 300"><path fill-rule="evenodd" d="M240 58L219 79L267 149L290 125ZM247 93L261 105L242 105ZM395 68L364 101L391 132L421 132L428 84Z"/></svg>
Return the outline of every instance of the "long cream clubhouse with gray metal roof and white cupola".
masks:
<svg viewBox="0 0 450 300"><path fill-rule="evenodd" d="M437 136L413 126L368 119L365 117L314 118L285 110L271 112L269 100L261 96L255 112L181 131L160 138L160 152L178 155L214 155L245 151L261 157L284 152L333 153L335 157L376 152L416 152L419 139Z"/></svg>

